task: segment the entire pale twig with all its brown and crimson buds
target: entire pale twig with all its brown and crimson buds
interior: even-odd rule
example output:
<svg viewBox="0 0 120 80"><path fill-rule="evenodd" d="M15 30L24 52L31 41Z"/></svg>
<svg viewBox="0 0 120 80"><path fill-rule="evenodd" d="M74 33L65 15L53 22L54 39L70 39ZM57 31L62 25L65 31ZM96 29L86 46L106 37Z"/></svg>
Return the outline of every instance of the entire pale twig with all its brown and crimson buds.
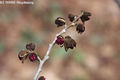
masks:
<svg viewBox="0 0 120 80"><path fill-rule="evenodd" d="M37 80L38 75L42 70L42 66L49 58L50 51L54 44L57 44L60 47L64 47L66 52L68 51L68 49L74 49L74 47L76 47L77 43L71 36L62 36L62 34L65 33L70 27L75 27L78 33L83 33L85 31L85 22L90 20L90 16L91 13L86 11L81 11L80 15L69 14L68 19L71 22L70 25L66 24L66 20L64 18L58 17L55 20L55 24L58 28L64 26L64 29L56 34L54 40L49 44L49 48L43 59L41 59L35 52L36 45L34 43L26 44L26 49L19 52L18 58L22 61L22 63L24 63L24 60L26 60L28 57L31 62L39 61L39 67L33 80ZM41 76L38 78L38 80L46 80L46 78L44 76Z"/></svg>

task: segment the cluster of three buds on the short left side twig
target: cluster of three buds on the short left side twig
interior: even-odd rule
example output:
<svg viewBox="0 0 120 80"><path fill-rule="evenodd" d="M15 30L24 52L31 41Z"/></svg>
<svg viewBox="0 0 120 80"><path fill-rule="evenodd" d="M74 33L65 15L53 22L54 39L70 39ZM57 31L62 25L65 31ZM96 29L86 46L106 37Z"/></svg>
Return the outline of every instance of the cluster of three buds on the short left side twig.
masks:
<svg viewBox="0 0 120 80"><path fill-rule="evenodd" d="M37 54L34 51L35 50L35 44L34 43L28 43L26 44L26 50L21 50L18 54L18 58L24 63L24 60L29 57L30 61L36 61L38 60Z"/></svg>

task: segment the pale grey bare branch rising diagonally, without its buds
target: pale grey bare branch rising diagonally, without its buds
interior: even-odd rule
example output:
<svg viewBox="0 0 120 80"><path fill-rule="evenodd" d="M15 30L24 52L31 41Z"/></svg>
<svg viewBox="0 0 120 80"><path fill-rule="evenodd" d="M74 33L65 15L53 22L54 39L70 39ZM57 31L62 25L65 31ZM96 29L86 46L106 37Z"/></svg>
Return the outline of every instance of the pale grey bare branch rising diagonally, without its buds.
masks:
<svg viewBox="0 0 120 80"><path fill-rule="evenodd" d="M66 25L66 24L65 24L65 25L64 25L64 29L63 29L61 32L59 32L58 34L56 34L56 36L55 36L54 40L52 41L52 43L49 44L49 48L48 48L48 50L47 50L46 55L44 56L44 58L41 60L40 57L38 57L39 67L38 67L38 70L37 70L36 74L34 75L33 80L37 80L37 77L38 77L39 73L40 73L41 70L42 70L43 64L44 64L45 61L49 58L50 51L51 51L52 47L54 46L54 44L55 44L55 42L56 42L57 36L65 33L66 30L69 29L70 27L75 26L77 20L78 20L82 15L83 15L83 12L81 11L80 15L77 16L77 17L75 18L75 20L74 20L70 25Z"/></svg>

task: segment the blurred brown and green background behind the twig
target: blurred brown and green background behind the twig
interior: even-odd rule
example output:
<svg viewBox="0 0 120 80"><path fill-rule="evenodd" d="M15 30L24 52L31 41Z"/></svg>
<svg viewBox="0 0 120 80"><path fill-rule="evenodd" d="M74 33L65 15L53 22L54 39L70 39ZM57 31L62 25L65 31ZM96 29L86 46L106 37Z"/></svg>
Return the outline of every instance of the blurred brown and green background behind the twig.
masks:
<svg viewBox="0 0 120 80"><path fill-rule="evenodd" d="M80 10L92 13L86 31L70 29L77 48L55 45L40 76L46 80L120 80L120 8L114 0L34 0L34 5L0 5L0 80L32 80L37 62L22 64L18 52L37 44L43 57L56 33L54 20ZM74 29L75 30L75 29Z"/></svg>

